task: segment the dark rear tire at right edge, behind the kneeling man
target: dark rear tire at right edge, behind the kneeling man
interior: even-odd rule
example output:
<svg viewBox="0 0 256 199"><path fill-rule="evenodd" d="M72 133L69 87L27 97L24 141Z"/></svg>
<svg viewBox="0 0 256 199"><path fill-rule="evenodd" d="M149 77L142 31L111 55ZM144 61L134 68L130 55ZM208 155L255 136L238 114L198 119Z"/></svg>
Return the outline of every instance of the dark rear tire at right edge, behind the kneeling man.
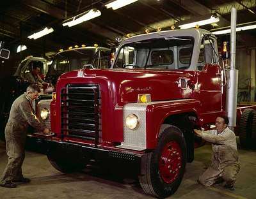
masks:
<svg viewBox="0 0 256 199"><path fill-rule="evenodd" d="M243 148L250 149L252 147L252 124L256 111L252 108L246 108L239 122L239 140Z"/></svg>

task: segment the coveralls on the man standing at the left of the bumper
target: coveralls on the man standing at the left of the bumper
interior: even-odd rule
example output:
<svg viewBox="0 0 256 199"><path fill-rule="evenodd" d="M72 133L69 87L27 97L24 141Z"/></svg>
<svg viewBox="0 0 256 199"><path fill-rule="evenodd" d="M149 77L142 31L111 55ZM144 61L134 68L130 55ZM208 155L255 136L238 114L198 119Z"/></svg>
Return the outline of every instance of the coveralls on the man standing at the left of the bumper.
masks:
<svg viewBox="0 0 256 199"><path fill-rule="evenodd" d="M28 125L37 131L44 131L45 126L33 114L31 99L26 93L15 99L10 111L10 117L5 128L6 152L8 163L1 177L0 183L21 179L21 166L25 158L25 141Z"/></svg>

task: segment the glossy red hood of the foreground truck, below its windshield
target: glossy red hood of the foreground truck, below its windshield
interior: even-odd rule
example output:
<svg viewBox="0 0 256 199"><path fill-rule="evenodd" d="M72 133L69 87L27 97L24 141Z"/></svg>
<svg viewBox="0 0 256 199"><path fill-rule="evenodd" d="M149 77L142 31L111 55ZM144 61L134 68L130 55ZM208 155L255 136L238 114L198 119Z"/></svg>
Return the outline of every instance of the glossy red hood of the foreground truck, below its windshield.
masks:
<svg viewBox="0 0 256 199"><path fill-rule="evenodd" d="M100 92L108 92L117 105L134 103L138 94L150 94L152 101L192 98L192 90L179 86L180 78L194 80L195 71L166 70L76 70L59 78L65 82L99 84ZM106 91L106 89L108 91Z"/></svg>

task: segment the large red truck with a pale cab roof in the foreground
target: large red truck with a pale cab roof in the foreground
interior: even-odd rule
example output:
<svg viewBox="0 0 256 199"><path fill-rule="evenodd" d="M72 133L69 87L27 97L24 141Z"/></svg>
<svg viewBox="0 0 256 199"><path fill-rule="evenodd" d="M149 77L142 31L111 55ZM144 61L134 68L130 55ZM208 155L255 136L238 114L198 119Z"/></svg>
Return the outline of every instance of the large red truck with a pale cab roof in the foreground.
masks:
<svg viewBox="0 0 256 199"><path fill-rule="evenodd" d="M175 193L193 161L193 128L213 128L226 114L226 72L209 31L127 38L111 69L61 75L52 100L38 105L55 135L32 136L61 172L82 169L90 159L134 161L145 193L163 198ZM245 133L255 126L254 108L239 114Z"/></svg>

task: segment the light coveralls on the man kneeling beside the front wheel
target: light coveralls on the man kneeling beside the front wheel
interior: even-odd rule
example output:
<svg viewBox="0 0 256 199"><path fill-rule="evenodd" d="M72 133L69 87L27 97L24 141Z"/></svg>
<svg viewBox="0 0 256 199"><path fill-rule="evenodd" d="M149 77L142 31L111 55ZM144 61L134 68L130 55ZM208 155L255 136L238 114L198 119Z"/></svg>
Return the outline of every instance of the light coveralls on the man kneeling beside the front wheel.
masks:
<svg viewBox="0 0 256 199"><path fill-rule="evenodd" d="M236 175L240 170L236 135L229 128L220 134L217 130L203 131L202 138L212 144L212 163L199 177L198 181L204 186L211 186L222 178L227 186L233 186Z"/></svg>

